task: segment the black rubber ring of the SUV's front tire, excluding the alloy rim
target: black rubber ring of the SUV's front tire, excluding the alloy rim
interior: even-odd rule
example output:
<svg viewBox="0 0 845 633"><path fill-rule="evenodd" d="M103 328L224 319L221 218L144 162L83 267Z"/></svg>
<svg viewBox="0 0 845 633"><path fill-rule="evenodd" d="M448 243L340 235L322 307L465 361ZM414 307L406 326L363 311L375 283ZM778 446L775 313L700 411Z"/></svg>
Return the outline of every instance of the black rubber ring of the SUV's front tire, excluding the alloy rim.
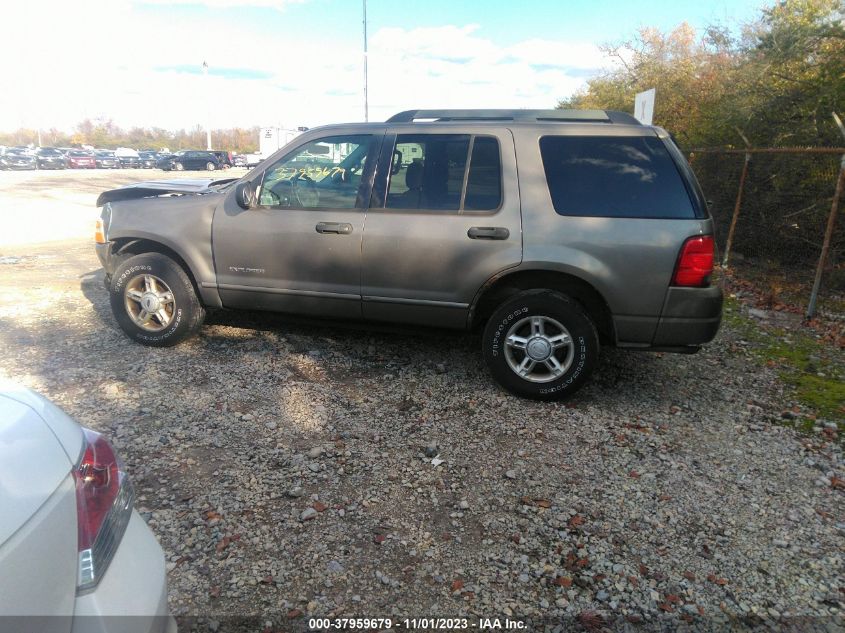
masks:
<svg viewBox="0 0 845 633"><path fill-rule="evenodd" d="M155 275L166 283L176 301L170 325L160 332L149 332L137 326L126 312L126 286L144 274ZM154 347L169 347L184 339L193 329L196 311L201 309L188 276L173 260L158 253L136 255L121 262L112 275L109 301L120 329L132 340Z"/></svg>

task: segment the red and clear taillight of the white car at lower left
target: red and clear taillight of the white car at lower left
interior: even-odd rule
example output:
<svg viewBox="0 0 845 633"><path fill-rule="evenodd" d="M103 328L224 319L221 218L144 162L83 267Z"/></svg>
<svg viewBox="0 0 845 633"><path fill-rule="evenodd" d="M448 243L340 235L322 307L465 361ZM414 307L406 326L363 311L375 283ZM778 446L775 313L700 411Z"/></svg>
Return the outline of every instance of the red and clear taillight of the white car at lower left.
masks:
<svg viewBox="0 0 845 633"><path fill-rule="evenodd" d="M83 429L85 450L73 469L79 571L77 591L105 574L132 516L134 493L123 464L99 433Z"/></svg>

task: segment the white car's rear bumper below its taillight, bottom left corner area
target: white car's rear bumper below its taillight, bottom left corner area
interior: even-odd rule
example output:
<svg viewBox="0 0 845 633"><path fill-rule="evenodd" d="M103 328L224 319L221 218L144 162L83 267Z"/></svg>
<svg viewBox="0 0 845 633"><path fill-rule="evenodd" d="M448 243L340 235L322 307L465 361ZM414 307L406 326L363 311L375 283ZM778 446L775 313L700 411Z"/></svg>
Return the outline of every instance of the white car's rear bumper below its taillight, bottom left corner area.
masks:
<svg viewBox="0 0 845 633"><path fill-rule="evenodd" d="M77 596L72 633L171 633L164 552L137 512L90 593Z"/></svg>

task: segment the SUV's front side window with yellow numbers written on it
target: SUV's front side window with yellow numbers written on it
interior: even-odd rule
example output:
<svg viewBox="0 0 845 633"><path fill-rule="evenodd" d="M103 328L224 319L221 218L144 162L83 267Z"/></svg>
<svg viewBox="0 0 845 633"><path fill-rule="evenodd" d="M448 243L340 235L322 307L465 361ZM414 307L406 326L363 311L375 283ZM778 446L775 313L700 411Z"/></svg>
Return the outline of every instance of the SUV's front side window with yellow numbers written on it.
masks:
<svg viewBox="0 0 845 633"><path fill-rule="evenodd" d="M331 136L311 141L280 159L264 174L259 203L273 208L355 209L371 134Z"/></svg>

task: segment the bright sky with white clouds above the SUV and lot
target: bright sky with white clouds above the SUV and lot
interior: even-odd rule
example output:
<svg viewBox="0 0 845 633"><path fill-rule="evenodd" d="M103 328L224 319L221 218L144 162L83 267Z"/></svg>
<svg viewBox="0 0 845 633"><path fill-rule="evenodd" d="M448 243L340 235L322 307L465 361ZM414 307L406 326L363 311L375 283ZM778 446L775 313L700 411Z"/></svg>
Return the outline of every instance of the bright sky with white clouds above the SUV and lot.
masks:
<svg viewBox="0 0 845 633"><path fill-rule="evenodd" d="M85 118L170 130L363 121L362 4L3 0L0 130L71 130ZM684 21L738 29L765 4L367 0L369 120L552 108L608 68L601 44Z"/></svg>

